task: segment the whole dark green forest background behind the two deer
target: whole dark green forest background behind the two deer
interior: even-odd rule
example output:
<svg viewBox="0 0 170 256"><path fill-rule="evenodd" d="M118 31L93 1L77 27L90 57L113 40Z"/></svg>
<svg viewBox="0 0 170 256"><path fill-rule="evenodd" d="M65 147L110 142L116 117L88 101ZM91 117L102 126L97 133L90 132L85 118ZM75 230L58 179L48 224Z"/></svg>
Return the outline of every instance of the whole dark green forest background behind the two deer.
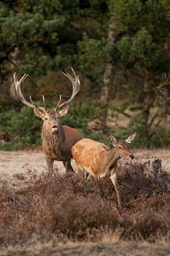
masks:
<svg viewBox="0 0 170 256"><path fill-rule="evenodd" d="M136 147L170 144L169 0L4 0L0 2L0 149L40 144L42 121L16 96L48 108L79 74L81 90L62 124L108 143L137 132Z"/></svg>

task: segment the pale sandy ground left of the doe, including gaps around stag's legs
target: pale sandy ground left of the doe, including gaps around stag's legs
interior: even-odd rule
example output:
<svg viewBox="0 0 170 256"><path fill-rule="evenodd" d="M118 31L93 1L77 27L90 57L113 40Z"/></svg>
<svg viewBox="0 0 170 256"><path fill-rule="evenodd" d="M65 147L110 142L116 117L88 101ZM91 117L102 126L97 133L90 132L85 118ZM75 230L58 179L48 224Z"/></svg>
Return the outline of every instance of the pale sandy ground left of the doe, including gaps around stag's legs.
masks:
<svg viewBox="0 0 170 256"><path fill-rule="evenodd" d="M62 161L55 161L54 167L60 173L65 171ZM6 181L13 186L22 185L22 178L26 179L30 170L36 174L47 171L45 154L42 151L0 151L0 181Z"/></svg>

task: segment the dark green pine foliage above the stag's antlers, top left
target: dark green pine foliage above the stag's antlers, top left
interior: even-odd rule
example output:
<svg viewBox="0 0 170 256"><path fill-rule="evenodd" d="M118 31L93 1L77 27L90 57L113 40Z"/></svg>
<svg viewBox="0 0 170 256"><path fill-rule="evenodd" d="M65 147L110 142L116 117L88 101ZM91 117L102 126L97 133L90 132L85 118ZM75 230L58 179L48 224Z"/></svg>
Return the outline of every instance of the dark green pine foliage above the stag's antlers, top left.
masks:
<svg viewBox="0 0 170 256"><path fill-rule="evenodd" d="M16 48L21 73L38 76L70 65L77 51L75 41L81 38L81 32L69 22L77 14L78 4L59 0L0 3L0 74L5 76L11 70Z"/></svg>

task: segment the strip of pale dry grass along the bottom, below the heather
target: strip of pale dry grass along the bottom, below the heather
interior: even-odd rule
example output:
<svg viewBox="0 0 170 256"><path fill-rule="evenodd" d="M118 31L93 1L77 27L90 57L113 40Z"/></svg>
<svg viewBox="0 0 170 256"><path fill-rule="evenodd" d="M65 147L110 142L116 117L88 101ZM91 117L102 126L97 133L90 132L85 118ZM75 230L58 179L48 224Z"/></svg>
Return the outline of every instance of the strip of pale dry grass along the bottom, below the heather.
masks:
<svg viewBox="0 0 170 256"><path fill-rule="evenodd" d="M170 255L169 243L149 244L147 242L67 242L65 244L48 245L39 244L34 247L11 247L1 251L1 256L168 256Z"/></svg>

